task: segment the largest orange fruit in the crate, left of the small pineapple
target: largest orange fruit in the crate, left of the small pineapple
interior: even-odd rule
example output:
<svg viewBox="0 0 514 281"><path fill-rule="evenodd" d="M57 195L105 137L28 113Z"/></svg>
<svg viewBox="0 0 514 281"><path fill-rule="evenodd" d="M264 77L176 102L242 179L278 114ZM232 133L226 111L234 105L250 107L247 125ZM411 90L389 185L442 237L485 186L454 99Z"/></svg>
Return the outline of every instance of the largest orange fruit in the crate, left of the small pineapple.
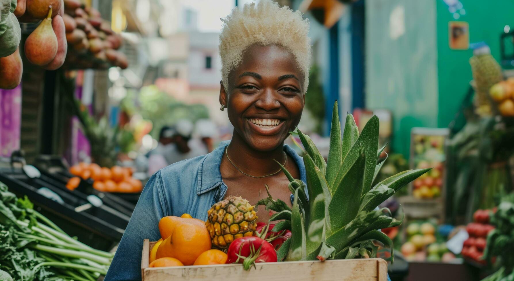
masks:
<svg viewBox="0 0 514 281"><path fill-rule="evenodd" d="M165 216L159 222L159 232L163 241L156 258L174 257L190 266L201 253L211 249L205 222L196 218Z"/></svg>

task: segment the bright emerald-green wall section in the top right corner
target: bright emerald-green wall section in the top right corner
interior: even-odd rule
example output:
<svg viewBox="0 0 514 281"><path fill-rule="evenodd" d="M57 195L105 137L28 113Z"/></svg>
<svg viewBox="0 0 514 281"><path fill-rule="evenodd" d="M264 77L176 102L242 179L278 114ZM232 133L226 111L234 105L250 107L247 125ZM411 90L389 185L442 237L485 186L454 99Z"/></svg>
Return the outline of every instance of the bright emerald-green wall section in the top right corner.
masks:
<svg viewBox="0 0 514 281"><path fill-rule="evenodd" d="M514 1L460 0L466 13L458 21L469 23L470 42L485 41L491 54L500 61L500 34L505 25L514 28ZM448 23L455 21L442 0L437 2L437 50L439 69L439 114L437 125L447 127L469 89L472 79L469 58L471 50L450 50Z"/></svg>

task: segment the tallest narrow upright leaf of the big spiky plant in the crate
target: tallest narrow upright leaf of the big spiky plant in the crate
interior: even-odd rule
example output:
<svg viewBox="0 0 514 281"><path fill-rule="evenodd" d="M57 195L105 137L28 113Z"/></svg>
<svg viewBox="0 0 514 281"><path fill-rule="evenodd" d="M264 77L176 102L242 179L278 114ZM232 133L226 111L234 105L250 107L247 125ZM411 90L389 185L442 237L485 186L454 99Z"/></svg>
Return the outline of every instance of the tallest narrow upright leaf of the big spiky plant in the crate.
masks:
<svg viewBox="0 0 514 281"><path fill-rule="evenodd" d="M337 109L337 100L334 103L332 111L332 127L330 131L330 146L328 148L328 159L326 163L326 182L330 189L333 189L334 180L337 172L341 168L343 159L341 157L341 123L339 122L339 112Z"/></svg>

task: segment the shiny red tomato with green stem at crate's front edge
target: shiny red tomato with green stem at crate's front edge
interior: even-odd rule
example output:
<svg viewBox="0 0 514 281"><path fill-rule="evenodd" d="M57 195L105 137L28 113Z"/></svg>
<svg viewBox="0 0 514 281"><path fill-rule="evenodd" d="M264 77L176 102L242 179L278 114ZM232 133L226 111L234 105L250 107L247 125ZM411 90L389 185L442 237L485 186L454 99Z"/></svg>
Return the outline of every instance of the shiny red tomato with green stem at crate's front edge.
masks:
<svg viewBox="0 0 514 281"><path fill-rule="evenodd" d="M246 236L233 240L227 250L227 264L240 263L246 270L253 263L277 262L277 252L273 245L256 236ZM238 257L238 255L244 258Z"/></svg>

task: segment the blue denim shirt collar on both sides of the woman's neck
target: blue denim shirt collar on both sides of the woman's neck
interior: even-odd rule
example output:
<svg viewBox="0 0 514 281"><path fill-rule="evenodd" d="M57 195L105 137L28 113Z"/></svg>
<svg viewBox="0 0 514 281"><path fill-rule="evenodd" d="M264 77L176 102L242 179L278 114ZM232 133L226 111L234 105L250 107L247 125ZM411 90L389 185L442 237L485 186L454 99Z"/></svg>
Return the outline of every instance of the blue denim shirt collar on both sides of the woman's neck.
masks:
<svg viewBox="0 0 514 281"><path fill-rule="evenodd" d="M230 140L226 140L219 144L218 148L204 157L203 162L198 166L198 189L196 194L200 195L217 188L223 183L222 174L219 171L219 166L222 163L223 153L225 148L230 144ZM300 179L305 183L307 182L305 166L303 159L296 153L294 149L288 145L284 145L284 151L292 158L298 169L300 170Z"/></svg>

